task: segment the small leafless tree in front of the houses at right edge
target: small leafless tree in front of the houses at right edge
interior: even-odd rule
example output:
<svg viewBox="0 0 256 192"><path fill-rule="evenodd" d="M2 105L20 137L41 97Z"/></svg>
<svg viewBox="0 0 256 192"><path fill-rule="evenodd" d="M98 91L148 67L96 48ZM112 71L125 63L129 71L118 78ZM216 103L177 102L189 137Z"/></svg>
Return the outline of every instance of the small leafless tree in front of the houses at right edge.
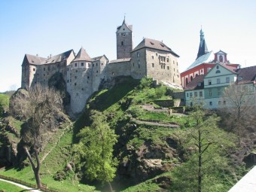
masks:
<svg viewBox="0 0 256 192"><path fill-rule="evenodd" d="M230 114L233 129L242 136L242 125L251 114L256 104L254 90L247 84L231 84L224 90L223 99L227 101L225 111Z"/></svg>

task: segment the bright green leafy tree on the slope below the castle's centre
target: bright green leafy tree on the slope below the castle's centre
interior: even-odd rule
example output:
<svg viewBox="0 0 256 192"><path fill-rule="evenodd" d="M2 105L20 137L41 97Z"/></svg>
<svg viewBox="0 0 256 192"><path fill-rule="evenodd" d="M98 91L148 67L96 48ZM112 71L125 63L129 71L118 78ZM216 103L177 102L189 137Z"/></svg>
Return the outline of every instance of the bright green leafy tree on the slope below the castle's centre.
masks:
<svg viewBox="0 0 256 192"><path fill-rule="evenodd" d="M108 183L116 172L117 160L113 158L113 145L117 142L117 135L106 122L105 115L99 111L91 112L91 126L86 126L78 133L80 142L74 145L74 151L85 159L85 175L90 180L97 179Z"/></svg>

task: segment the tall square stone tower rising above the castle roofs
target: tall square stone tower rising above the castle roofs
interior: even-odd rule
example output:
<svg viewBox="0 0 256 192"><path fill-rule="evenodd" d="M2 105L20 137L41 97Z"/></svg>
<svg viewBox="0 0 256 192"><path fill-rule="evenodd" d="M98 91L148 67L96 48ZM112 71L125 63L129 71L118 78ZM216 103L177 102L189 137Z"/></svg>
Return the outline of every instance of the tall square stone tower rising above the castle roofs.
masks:
<svg viewBox="0 0 256 192"><path fill-rule="evenodd" d="M117 27L117 59L130 58L133 50L133 26L123 24Z"/></svg>

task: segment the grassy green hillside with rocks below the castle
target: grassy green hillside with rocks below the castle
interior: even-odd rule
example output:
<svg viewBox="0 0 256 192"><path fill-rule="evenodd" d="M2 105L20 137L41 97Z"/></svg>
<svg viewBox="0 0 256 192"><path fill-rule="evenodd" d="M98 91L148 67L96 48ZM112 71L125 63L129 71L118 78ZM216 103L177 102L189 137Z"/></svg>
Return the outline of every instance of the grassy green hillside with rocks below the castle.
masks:
<svg viewBox="0 0 256 192"><path fill-rule="evenodd" d="M84 126L90 126L92 110L102 111L119 136L114 146L114 157L118 160L117 176L112 182L114 190L170 191L172 181L175 177L178 179L178 174L172 171L189 160L193 151L186 151L183 145L184 135L192 122L186 114L169 114L168 109L154 108L154 100L172 99L170 93L175 90L153 87L151 79L116 78L113 81L114 86L103 87L91 96L75 122L67 120L50 133L48 144L41 151L41 180L47 186L59 191L107 191L99 181L90 182L84 177L84 163L76 162L72 154L72 145L78 142L77 133ZM19 132L22 122L13 119L12 122ZM7 131L5 134L13 134L18 142L14 133ZM35 184L28 161L22 165L0 171L0 174L26 178ZM227 171L225 176L229 174ZM226 181L222 176L216 181ZM221 186L223 184L227 184L227 188L232 185L221 183Z"/></svg>

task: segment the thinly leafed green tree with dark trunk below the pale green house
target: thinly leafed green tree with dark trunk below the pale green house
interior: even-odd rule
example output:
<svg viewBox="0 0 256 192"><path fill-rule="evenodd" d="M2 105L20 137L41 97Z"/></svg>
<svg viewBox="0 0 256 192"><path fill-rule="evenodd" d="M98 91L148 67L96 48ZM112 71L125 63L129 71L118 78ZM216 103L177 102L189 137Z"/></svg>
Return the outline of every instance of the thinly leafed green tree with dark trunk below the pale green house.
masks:
<svg viewBox="0 0 256 192"><path fill-rule="evenodd" d="M190 112L191 127L184 133L183 141L190 158L174 172L178 181L173 190L218 191L227 186L223 184L227 180L221 177L228 172L227 155L233 151L235 139L218 128L219 120L216 114L208 114L194 104L194 111Z"/></svg>

